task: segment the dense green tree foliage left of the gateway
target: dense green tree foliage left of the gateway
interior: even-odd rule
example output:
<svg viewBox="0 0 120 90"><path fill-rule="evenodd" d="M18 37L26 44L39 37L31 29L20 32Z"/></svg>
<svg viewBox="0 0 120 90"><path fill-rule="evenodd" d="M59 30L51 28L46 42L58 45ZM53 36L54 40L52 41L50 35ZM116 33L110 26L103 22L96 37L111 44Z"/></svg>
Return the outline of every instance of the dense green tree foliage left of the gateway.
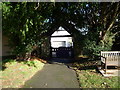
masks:
<svg viewBox="0 0 120 90"><path fill-rule="evenodd" d="M9 37L14 54L32 52L33 46L41 44L40 35L47 32L46 18L35 10L35 6L36 3L3 3L3 33Z"/></svg>

